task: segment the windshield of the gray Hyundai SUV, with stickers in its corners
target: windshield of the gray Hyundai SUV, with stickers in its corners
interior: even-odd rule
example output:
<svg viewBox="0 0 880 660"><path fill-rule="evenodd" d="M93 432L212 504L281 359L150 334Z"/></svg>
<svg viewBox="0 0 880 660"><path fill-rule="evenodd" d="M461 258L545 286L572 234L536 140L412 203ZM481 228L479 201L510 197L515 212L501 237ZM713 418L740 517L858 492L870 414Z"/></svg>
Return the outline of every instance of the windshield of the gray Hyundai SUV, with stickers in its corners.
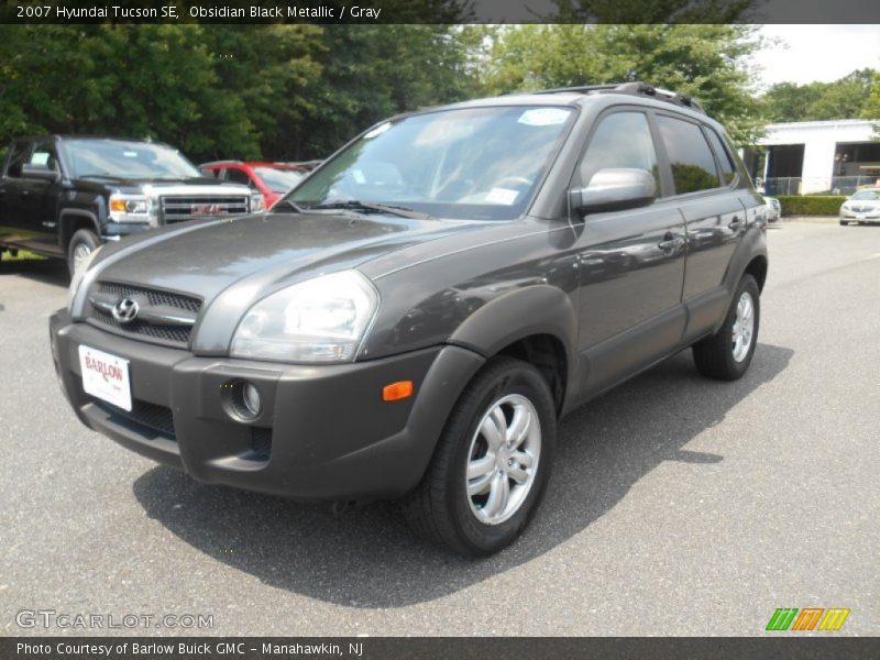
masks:
<svg viewBox="0 0 880 660"><path fill-rule="evenodd" d="M452 219L526 209L568 132L572 108L443 110L385 122L294 190L300 207L358 200Z"/></svg>

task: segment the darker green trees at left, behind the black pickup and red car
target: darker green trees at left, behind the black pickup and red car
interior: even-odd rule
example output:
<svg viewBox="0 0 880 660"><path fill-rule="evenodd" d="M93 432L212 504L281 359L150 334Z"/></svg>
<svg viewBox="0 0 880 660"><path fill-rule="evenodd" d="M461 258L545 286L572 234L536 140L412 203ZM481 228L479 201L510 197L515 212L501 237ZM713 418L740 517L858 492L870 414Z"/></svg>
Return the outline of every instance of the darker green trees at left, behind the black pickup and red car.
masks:
<svg viewBox="0 0 880 660"><path fill-rule="evenodd" d="M474 45L447 25L0 25L0 143L105 133L197 162L322 157L391 113L474 96Z"/></svg>

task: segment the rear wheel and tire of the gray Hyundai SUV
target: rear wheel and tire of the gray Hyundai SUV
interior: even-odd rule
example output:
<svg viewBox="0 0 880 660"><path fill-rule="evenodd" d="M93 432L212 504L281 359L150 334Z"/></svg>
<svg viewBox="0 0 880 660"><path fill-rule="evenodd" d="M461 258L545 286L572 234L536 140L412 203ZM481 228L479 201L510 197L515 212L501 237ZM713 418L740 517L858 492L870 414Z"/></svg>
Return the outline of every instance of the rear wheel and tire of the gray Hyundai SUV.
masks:
<svg viewBox="0 0 880 660"><path fill-rule="evenodd" d="M721 330L693 346L694 363L701 374L718 381L736 381L746 373L751 364L755 346L758 344L758 328L761 319L760 295L755 278L751 275L744 275L736 287ZM751 332L748 334L747 343L745 336L740 334L743 342L737 344L735 341L737 318L748 314L748 307L740 308L740 302L745 298L748 298L751 306Z"/></svg>

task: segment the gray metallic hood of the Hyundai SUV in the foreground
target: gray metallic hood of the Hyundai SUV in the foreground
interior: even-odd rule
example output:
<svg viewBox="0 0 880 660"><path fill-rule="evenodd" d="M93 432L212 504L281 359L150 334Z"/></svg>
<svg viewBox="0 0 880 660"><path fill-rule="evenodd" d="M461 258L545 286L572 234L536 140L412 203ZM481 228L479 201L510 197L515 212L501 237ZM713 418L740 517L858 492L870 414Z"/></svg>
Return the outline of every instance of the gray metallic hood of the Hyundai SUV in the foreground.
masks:
<svg viewBox="0 0 880 660"><path fill-rule="evenodd" d="M221 354L239 319L270 293L417 243L480 231L486 224L345 212L187 222L101 250L89 279L201 297L193 351Z"/></svg>

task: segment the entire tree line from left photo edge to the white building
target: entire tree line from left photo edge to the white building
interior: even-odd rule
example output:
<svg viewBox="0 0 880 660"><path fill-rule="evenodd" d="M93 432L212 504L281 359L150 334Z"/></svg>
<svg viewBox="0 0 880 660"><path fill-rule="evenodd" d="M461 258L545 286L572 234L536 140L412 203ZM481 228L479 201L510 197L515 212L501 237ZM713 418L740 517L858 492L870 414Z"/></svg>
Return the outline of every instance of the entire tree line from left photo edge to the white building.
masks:
<svg viewBox="0 0 880 660"><path fill-rule="evenodd" d="M416 12L468 11L458 0L393 2ZM620 7L650 9L642 4ZM725 12L747 2L653 4ZM695 96L748 144L760 125L747 67L757 45L754 29L723 24L7 24L0 25L0 144L23 134L108 133L148 135L196 162L306 160L398 112L636 79Z"/></svg>

